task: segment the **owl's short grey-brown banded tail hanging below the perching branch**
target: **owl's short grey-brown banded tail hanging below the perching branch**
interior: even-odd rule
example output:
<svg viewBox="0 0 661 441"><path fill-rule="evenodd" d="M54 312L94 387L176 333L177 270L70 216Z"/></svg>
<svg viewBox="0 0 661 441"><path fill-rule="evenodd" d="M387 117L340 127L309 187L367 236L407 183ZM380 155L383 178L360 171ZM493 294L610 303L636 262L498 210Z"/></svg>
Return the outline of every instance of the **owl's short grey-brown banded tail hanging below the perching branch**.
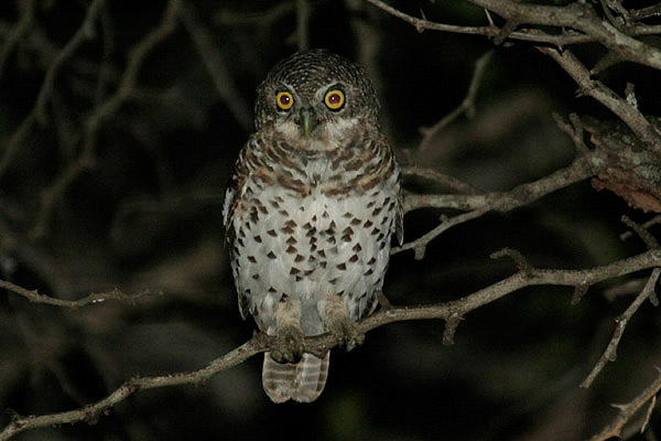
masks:
<svg viewBox="0 0 661 441"><path fill-rule="evenodd" d="M324 358L303 354L299 363L277 363L270 353L264 354L262 385L273 402L293 399L312 402L322 395L328 377L330 351Z"/></svg>

